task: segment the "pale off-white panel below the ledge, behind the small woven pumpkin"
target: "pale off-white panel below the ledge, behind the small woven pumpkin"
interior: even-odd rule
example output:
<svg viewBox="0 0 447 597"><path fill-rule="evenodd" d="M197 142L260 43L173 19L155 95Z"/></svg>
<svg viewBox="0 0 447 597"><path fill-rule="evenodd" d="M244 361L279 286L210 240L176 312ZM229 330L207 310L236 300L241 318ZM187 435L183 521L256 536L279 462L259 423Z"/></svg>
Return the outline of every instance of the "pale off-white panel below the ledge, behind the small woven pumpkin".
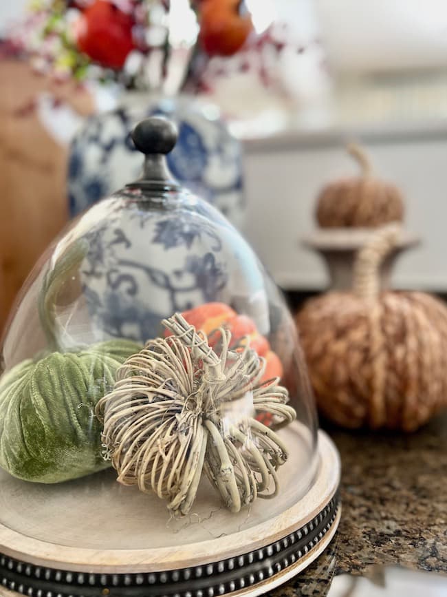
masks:
<svg viewBox="0 0 447 597"><path fill-rule="evenodd" d="M285 289L323 289L323 261L301 245L315 227L315 199L323 184L358 168L343 150L357 138L378 176L400 187L406 229L422 244L402 255L395 286L447 292L447 126L417 132L356 136L291 135L270 143L246 143L246 234L276 282Z"/></svg>

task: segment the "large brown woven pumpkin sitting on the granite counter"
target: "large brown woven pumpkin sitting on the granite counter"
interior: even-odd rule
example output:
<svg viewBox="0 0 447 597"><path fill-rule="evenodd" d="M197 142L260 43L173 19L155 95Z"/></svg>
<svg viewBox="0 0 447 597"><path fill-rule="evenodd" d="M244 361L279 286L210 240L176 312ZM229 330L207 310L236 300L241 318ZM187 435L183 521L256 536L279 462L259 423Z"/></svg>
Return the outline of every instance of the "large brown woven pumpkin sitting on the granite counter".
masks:
<svg viewBox="0 0 447 597"><path fill-rule="evenodd" d="M384 227L360 250L351 292L309 300L296 317L318 406L345 427L411 431L447 404L447 307L379 288L399 233Z"/></svg>

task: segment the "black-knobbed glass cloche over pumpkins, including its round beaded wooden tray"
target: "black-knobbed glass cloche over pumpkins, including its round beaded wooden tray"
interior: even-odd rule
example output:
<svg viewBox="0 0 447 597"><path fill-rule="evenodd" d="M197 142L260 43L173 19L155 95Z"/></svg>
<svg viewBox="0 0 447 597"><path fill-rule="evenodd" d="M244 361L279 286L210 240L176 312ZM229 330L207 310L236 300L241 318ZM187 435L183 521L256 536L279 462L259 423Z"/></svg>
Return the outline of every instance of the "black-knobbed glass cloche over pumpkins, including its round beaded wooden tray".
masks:
<svg viewBox="0 0 447 597"><path fill-rule="evenodd" d="M133 140L142 177L47 250L3 339L0 580L19 593L263 587L338 521L338 458L281 293L173 180L173 125L149 118ZM265 554L279 538L278 569Z"/></svg>

